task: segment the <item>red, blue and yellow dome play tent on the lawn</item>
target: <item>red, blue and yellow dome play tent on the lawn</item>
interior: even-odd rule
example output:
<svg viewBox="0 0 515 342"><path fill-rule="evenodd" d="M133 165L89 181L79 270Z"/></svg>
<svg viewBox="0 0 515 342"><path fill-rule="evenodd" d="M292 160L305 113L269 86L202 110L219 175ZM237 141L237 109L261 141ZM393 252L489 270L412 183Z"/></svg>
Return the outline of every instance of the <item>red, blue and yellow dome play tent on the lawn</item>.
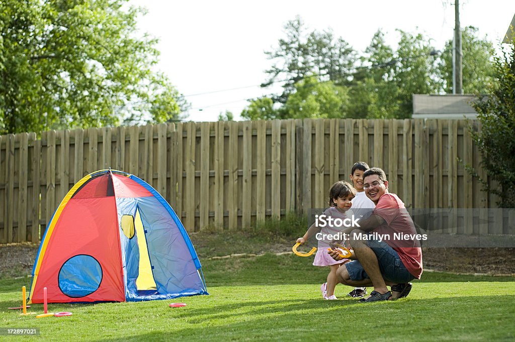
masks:
<svg viewBox="0 0 515 342"><path fill-rule="evenodd" d="M141 301L208 294L179 217L140 178L100 170L64 197L32 269L29 303Z"/></svg>

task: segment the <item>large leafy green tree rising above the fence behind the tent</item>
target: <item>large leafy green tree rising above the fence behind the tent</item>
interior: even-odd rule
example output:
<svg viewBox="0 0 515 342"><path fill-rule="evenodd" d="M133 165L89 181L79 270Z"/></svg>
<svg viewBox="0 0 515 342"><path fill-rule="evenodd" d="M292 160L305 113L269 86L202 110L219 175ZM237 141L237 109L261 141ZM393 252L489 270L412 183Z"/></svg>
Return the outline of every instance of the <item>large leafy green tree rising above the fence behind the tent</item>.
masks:
<svg viewBox="0 0 515 342"><path fill-rule="evenodd" d="M4 0L0 133L162 123L187 106L151 71L155 39L135 38L128 0Z"/></svg>

